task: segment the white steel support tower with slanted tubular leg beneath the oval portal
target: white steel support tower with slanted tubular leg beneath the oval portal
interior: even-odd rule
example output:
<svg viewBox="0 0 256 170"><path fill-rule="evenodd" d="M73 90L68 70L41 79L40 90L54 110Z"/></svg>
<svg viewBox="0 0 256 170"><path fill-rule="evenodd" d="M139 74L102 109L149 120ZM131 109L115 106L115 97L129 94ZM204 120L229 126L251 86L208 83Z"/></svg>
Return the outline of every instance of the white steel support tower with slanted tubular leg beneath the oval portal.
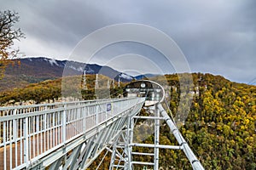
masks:
<svg viewBox="0 0 256 170"><path fill-rule="evenodd" d="M183 139L182 134L178 131L176 124L166 113L163 106L158 104L148 108L154 116L131 116L128 119L128 124L120 133L119 138L113 144L112 157L109 169L134 169L134 165L151 166L154 170L159 169L159 149L183 150L184 154L189 159L193 169L203 170L201 162L196 158L193 151L189 148L189 144ZM154 144L138 144L133 143L133 128L135 119L151 119L154 120ZM171 133L177 139L179 145L164 145L160 144L160 120L166 121L170 127ZM148 147L154 148L154 153L133 152L132 147ZM154 162L134 161L132 156L154 156Z"/></svg>

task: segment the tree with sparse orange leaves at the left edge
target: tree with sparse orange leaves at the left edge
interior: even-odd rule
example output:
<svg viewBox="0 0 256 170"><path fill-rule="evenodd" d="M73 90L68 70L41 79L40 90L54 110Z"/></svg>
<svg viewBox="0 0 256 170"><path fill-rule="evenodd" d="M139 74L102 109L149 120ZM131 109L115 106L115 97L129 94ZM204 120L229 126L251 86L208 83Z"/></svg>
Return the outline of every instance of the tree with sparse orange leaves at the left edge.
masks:
<svg viewBox="0 0 256 170"><path fill-rule="evenodd" d="M15 40L20 41L20 38L24 38L20 28L14 28L19 19L20 16L15 11L0 11L0 80L6 66L13 62L10 59L14 59L19 52L19 49L12 47Z"/></svg>

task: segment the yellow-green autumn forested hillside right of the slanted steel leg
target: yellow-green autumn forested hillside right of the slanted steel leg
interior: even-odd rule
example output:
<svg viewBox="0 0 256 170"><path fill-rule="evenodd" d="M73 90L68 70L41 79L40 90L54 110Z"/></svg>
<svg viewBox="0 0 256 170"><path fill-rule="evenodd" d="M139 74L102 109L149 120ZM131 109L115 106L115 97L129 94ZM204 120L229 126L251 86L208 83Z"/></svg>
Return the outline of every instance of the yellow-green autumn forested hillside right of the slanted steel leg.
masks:
<svg viewBox="0 0 256 170"><path fill-rule="evenodd" d="M175 77L168 79L173 82ZM210 74L193 74L193 79L199 94L194 95L189 116L180 131L193 144L192 149L204 167L255 169L256 87ZM175 113L174 91L172 96L171 108ZM172 138L168 140L172 143ZM177 160L179 154L166 157L162 163L170 162L177 169L183 167L182 161Z"/></svg>

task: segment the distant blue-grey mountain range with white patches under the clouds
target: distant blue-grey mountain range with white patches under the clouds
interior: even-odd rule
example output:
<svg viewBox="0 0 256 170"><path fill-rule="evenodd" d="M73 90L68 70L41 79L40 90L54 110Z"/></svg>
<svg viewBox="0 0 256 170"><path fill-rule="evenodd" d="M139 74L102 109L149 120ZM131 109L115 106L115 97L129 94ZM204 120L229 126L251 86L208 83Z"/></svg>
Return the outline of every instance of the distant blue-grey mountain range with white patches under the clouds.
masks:
<svg viewBox="0 0 256 170"><path fill-rule="evenodd" d="M82 75L84 71L86 74L102 74L121 82L130 82L132 79L138 80L143 77L153 77L151 74L132 77L108 66L45 57L19 59L19 63L20 65L15 64L7 67L5 76L0 80L0 91L22 88L30 83L53 80L63 75Z"/></svg>

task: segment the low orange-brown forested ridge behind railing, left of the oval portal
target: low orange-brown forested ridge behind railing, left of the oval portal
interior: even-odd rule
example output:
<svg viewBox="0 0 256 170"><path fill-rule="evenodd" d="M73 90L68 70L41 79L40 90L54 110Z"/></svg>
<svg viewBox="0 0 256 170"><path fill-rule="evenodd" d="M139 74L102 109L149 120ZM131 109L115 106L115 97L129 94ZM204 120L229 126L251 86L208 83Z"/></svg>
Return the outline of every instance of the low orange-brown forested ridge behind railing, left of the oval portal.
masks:
<svg viewBox="0 0 256 170"><path fill-rule="evenodd" d="M96 99L95 93L103 93L109 82L111 97L117 97L122 94L123 82L114 82L109 77L99 75L97 91L95 90L96 75L86 75L86 88L83 86L81 76L63 77L55 80L46 80L44 82L31 83L25 88L14 88L13 90L0 93L0 105L31 105L39 103L52 103L61 101L61 97L76 99L79 96L82 99ZM62 86L61 86L62 82ZM78 84L78 82L81 82ZM104 88L101 88L103 87ZM61 93L61 88L62 93ZM109 94L105 95L109 97Z"/></svg>

